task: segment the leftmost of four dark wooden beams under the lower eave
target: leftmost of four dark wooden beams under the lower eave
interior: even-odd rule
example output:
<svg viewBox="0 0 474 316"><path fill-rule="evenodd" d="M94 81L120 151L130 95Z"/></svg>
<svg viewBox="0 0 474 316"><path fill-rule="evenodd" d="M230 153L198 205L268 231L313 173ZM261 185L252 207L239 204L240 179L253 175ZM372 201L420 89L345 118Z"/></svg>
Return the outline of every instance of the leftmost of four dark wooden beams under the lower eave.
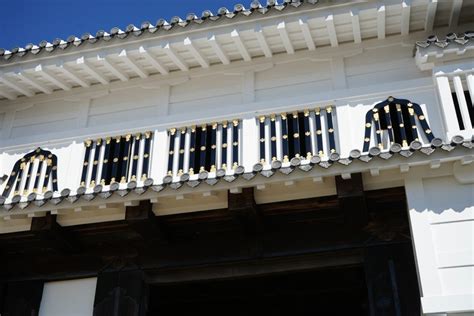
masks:
<svg viewBox="0 0 474 316"><path fill-rule="evenodd" d="M57 215L46 213L33 217L30 231L45 247L60 253L74 253L80 250L78 242L57 222Z"/></svg>

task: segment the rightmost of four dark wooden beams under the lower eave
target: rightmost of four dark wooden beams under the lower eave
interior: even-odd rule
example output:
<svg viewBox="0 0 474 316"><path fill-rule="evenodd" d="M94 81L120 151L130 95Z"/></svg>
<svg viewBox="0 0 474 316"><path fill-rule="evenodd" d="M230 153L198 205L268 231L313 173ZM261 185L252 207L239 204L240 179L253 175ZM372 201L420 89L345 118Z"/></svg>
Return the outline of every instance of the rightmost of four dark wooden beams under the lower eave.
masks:
<svg viewBox="0 0 474 316"><path fill-rule="evenodd" d="M350 179L336 176L336 191L348 230L361 233L368 223L362 174L352 174Z"/></svg>

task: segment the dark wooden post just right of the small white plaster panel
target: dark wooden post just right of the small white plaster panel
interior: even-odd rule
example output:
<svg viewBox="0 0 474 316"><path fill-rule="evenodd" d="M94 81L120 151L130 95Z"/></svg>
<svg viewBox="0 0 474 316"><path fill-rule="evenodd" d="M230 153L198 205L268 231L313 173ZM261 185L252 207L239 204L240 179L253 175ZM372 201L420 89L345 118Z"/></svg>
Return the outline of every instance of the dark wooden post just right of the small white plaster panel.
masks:
<svg viewBox="0 0 474 316"><path fill-rule="evenodd" d="M145 316L148 285L143 271L103 272L97 278L94 316Z"/></svg>

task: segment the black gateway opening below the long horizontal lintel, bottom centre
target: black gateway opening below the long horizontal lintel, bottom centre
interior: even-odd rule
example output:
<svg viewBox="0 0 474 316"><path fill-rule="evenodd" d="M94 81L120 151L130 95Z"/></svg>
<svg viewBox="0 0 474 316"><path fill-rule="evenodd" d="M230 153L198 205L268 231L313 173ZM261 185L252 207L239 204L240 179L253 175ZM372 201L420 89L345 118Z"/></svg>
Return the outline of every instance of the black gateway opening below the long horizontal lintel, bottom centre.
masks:
<svg viewBox="0 0 474 316"><path fill-rule="evenodd" d="M362 266L154 285L148 315L368 315Z"/></svg>

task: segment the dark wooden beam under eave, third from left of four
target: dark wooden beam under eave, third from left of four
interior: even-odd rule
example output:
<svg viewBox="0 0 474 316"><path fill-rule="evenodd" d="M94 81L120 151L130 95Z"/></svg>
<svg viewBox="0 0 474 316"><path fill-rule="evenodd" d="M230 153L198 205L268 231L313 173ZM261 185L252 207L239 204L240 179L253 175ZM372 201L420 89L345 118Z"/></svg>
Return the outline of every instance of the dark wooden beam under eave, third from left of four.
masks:
<svg viewBox="0 0 474 316"><path fill-rule="evenodd" d="M244 188L241 193L228 191L228 210L242 227L250 256L260 256L263 252L263 214L255 203L254 189Z"/></svg>

